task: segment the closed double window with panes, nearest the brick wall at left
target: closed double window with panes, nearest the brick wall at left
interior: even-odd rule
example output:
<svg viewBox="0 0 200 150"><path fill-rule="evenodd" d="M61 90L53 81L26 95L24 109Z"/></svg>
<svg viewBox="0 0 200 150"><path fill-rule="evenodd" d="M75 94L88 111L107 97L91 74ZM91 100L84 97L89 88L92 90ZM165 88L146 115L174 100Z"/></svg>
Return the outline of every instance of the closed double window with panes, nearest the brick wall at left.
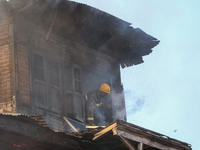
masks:
<svg viewBox="0 0 200 150"><path fill-rule="evenodd" d="M62 112L59 62L33 54L33 94L35 105Z"/></svg>

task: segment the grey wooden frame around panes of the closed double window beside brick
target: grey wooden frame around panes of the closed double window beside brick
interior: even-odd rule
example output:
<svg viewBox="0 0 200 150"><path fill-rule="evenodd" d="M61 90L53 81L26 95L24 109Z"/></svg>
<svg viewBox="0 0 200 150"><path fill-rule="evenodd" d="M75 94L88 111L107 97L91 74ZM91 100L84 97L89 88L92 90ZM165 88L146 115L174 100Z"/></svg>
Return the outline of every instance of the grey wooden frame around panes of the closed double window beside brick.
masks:
<svg viewBox="0 0 200 150"><path fill-rule="evenodd" d="M34 55L43 57L45 81L40 81L40 80L34 78L34 73L35 73ZM55 112L58 114L62 114L63 106L62 106L62 93L61 93L61 91L62 91L61 90L61 88L62 88L62 86L61 86L61 62L58 59L53 58L52 56L49 56L42 52L38 52L36 50L32 51L31 58L32 58L32 60L31 60L32 69L31 70L32 70L32 89L33 89L32 95L33 95L33 103L34 103L35 107L49 110L49 111L52 111L52 112ZM52 73L52 71L50 70L49 61L54 61L54 62L58 63L58 73L57 73L58 84L59 84L58 86L52 84L50 81L51 80L50 73ZM45 85L45 105L38 103L36 100L36 83ZM58 97L60 99L60 105L61 105L60 109L56 108L55 103L52 99L53 98L52 97L52 88L55 90L58 90L58 94L59 94Z"/></svg>

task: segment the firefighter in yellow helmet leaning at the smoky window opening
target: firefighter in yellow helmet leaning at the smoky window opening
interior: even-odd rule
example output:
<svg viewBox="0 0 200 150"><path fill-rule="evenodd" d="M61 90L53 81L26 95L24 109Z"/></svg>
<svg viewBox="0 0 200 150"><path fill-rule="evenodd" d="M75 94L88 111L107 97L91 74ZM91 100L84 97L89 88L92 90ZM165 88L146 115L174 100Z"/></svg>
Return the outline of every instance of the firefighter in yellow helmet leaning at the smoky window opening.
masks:
<svg viewBox="0 0 200 150"><path fill-rule="evenodd" d="M95 126L94 124L94 109L102 105L102 98L110 94L110 86L103 83L99 89L89 92L85 95L86 100L86 123ZM110 108L110 105L104 107Z"/></svg>

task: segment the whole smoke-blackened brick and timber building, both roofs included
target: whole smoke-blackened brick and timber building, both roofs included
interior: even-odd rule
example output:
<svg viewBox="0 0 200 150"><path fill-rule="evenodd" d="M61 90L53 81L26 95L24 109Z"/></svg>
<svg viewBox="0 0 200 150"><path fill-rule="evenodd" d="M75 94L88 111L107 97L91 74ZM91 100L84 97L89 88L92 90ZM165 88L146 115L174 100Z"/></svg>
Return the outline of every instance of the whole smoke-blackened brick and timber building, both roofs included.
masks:
<svg viewBox="0 0 200 150"><path fill-rule="evenodd" d="M158 43L84 4L0 0L0 149L191 150L126 122L120 67L143 63ZM86 130L83 96L102 83L107 126Z"/></svg>

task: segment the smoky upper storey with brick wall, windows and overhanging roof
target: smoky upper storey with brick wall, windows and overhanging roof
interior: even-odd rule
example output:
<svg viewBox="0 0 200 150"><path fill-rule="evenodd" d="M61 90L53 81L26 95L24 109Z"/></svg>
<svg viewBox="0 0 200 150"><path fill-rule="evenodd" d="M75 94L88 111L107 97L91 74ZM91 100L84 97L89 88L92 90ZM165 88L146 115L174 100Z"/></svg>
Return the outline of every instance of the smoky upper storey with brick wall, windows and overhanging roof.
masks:
<svg viewBox="0 0 200 150"><path fill-rule="evenodd" d="M83 95L107 83L112 107L101 110L102 122L126 120L120 65L142 63L157 39L66 0L2 0L0 7L0 112L41 115L66 130L63 116L84 123Z"/></svg>

